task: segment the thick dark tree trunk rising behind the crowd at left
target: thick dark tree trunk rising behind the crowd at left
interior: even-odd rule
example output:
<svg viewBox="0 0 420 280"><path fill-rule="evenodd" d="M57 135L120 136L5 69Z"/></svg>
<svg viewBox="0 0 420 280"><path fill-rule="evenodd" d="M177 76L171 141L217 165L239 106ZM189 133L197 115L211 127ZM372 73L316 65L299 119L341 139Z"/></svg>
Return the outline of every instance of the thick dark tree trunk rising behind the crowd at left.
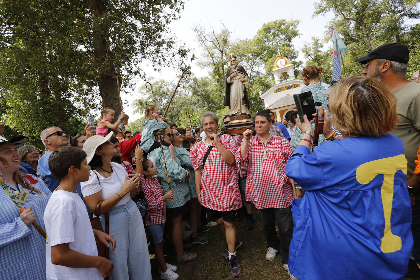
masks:
<svg viewBox="0 0 420 280"><path fill-rule="evenodd" d="M107 7L103 0L88 0L89 10L93 19L93 61L99 71L99 92L102 107L115 110L115 115L121 113L121 103L118 96L117 71L110 58L113 54L108 44L110 37L110 22L104 17ZM115 118L116 119L116 118Z"/></svg>

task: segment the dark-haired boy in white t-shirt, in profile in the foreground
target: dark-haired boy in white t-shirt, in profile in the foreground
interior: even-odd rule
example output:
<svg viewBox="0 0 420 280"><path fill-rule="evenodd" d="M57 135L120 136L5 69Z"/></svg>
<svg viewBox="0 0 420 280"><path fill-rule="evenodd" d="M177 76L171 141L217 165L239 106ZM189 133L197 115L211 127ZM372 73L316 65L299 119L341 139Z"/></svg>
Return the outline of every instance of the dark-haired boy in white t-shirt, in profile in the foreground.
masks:
<svg viewBox="0 0 420 280"><path fill-rule="evenodd" d="M61 147L50 155L48 165L60 186L53 191L44 212L47 279L103 280L114 264L98 256L94 235L108 247L112 242L113 250L115 240L92 230L86 207L76 193L79 183L89 179L86 153L76 147Z"/></svg>

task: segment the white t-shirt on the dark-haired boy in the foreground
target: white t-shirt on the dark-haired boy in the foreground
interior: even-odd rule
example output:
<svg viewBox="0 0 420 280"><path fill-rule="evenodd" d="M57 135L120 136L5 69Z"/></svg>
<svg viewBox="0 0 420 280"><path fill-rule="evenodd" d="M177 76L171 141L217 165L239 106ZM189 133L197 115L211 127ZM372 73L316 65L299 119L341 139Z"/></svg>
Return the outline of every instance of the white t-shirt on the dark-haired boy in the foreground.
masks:
<svg viewBox="0 0 420 280"><path fill-rule="evenodd" d="M69 243L70 249L82 254L98 255L92 225L79 194L53 191L45 208L44 223L47 231L45 260L48 280L103 280L102 273L95 267L72 268L51 262L51 247L63 243Z"/></svg>

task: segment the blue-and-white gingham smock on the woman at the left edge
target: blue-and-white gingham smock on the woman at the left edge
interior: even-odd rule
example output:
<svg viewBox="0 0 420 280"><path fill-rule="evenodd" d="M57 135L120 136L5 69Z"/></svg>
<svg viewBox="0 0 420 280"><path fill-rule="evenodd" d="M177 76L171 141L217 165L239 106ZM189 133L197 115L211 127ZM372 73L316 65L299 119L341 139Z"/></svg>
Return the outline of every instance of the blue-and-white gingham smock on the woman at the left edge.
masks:
<svg viewBox="0 0 420 280"><path fill-rule="evenodd" d="M35 221L45 230L44 210L51 191L42 180L28 176L32 186L42 194L28 194L30 200L24 207L32 207ZM16 204L0 188L0 279L45 279L45 238L33 225L28 227L19 215Z"/></svg>

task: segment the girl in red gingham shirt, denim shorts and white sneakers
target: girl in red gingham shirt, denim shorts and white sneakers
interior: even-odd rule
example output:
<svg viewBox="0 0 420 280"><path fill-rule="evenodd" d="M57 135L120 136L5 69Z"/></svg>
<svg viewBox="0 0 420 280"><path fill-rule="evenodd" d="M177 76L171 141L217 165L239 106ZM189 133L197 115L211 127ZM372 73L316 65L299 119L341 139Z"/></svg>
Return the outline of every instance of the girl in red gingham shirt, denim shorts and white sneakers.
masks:
<svg viewBox="0 0 420 280"><path fill-rule="evenodd" d="M166 205L165 200L173 198L173 192L168 191L163 194L162 187L153 176L156 175L156 166L151 160L143 160L144 182L142 191L146 197L149 211L146 216L146 229L150 233L150 238L155 244L155 256L159 263L161 279L177 279L179 276L175 273L177 267L165 262L163 256L163 229L166 221Z"/></svg>

